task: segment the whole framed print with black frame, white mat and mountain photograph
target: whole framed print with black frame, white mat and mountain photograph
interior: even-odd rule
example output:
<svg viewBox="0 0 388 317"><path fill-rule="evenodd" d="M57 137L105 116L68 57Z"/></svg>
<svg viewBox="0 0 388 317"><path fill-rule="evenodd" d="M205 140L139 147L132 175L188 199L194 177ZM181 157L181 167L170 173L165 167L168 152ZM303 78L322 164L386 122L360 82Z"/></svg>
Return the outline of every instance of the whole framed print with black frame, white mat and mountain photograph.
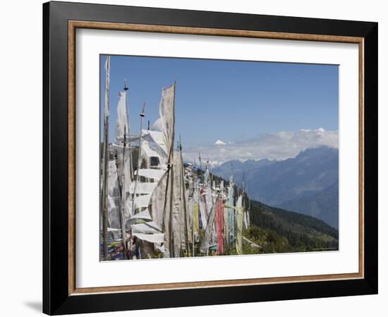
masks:
<svg viewBox="0 0 388 317"><path fill-rule="evenodd" d="M377 23L43 13L44 313L377 293Z"/></svg>

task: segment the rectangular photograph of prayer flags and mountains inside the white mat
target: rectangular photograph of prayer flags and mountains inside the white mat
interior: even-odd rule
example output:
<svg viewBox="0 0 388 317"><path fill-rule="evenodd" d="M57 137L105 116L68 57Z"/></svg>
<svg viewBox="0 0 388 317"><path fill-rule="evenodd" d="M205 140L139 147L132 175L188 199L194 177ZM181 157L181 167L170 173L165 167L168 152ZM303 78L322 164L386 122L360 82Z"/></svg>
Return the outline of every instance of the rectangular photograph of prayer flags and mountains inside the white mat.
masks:
<svg viewBox="0 0 388 317"><path fill-rule="evenodd" d="M100 54L99 114L100 261L339 251L339 65Z"/></svg>

